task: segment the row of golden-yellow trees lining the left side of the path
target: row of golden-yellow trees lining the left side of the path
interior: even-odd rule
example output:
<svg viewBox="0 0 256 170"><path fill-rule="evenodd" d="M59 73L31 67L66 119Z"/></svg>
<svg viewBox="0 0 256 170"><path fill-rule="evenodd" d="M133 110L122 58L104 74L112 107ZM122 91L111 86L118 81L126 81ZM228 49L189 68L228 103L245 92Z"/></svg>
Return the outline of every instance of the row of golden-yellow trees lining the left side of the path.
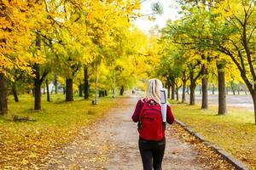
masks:
<svg viewBox="0 0 256 170"><path fill-rule="evenodd" d="M123 94L143 72L151 50L148 37L131 24L141 16L135 12L140 3L0 1L0 114L8 111L9 88L16 101L19 89L33 89L35 111L49 82L55 90L63 84L66 101L73 101L73 88L88 99L89 86L96 87L96 104L99 89L112 89L114 96L119 86Z"/></svg>

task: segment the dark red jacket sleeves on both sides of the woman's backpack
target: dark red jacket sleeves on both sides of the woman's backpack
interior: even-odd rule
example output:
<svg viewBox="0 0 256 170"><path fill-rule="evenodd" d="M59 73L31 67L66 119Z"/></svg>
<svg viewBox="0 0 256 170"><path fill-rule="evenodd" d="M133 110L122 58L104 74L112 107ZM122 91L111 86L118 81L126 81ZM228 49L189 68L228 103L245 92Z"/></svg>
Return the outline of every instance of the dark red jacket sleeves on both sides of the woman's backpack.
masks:
<svg viewBox="0 0 256 170"><path fill-rule="evenodd" d="M139 121L140 111L142 108L143 108L143 101L140 99L137 101L135 111L133 112L133 115L131 117L133 122ZM172 124L174 122L174 116L172 115L172 109L170 105L167 105L166 122L168 122L169 124Z"/></svg>

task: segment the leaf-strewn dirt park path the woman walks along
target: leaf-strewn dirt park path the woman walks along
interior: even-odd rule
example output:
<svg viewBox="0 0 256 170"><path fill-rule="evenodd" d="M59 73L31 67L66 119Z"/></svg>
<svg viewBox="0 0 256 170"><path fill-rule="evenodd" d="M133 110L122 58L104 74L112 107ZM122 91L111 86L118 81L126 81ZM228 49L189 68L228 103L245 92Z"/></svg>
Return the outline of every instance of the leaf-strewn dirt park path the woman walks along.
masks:
<svg viewBox="0 0 256 170"><path fill-rule="evenodd" d="M53 150L44 159L45 169L142 169L137 149L137 123L131 122L137 98L121 99L98 122L84 127L72 143ZM198 161L198 153L191 144L175 135L167 127L166 154L163 169L211 169Z"/></svg>

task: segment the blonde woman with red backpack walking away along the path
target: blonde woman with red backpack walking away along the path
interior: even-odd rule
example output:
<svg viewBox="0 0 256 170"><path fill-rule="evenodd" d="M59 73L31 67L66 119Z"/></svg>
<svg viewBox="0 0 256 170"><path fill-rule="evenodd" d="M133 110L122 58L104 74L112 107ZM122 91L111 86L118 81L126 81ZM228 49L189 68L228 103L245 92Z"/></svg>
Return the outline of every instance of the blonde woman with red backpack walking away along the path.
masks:
<svg viewBox="0 0 256 170"><path fill-rule="evenodd" d="M139 150L144 170L161 170L161 164L166 149L165 129L162 122L160 106L160 90L162 82L153 78L148 81L146 97L138 100L132 115L133 122L138 122ZM166 122L172 124L174 117L171 106L167 105Z"/></svg>

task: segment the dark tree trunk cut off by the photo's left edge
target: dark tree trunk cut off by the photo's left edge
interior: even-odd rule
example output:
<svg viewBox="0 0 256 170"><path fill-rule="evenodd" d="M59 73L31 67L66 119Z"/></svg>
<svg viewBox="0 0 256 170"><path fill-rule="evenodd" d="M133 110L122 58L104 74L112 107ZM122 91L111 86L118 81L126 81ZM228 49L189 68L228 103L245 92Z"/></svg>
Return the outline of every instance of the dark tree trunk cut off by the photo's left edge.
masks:
<svg viewBox="0 0 256 170"><path fill-rule="evenodd" d="M0 115L7 114L7 81L6 77L0 73Z"/></svg>

